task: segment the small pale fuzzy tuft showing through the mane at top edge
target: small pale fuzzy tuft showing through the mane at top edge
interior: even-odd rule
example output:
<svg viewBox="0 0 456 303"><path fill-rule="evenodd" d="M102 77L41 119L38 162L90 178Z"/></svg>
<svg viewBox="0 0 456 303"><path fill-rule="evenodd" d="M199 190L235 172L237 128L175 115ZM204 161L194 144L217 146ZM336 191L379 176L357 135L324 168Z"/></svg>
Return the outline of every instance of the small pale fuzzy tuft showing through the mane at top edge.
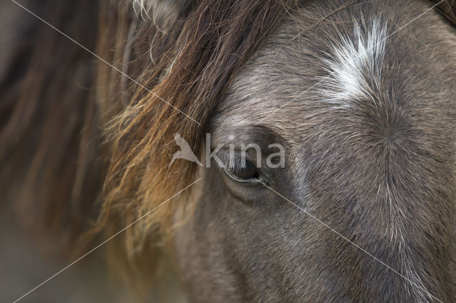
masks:
<svg viewBox="0 0 456 303"><path fill-rule="evenodd" d="M192 5L190 0L133 0L133 9L141 16L157 21L170 15L180 14Z"/></svg>

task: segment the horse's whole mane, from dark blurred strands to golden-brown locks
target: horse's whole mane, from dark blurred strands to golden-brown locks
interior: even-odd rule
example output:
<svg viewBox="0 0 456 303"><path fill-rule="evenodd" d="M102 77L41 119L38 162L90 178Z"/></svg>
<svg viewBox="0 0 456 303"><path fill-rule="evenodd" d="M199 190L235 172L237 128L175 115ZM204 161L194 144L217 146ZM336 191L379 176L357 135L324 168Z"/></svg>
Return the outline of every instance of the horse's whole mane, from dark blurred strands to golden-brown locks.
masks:
<svg viewBox="0 0 456 303"><path fill-rule="evenodd" d="M59 252L80 255L195 181L192 162L169 165L173 135L202 151L229 83L299 7L133 2L48 0L33 9L137 83L37 21L0 86L1 192L29 230L61 239ZM439 8L456 24L455 1ZM142 281L157 270L182 195L108 242L120 270Z"/></svg>

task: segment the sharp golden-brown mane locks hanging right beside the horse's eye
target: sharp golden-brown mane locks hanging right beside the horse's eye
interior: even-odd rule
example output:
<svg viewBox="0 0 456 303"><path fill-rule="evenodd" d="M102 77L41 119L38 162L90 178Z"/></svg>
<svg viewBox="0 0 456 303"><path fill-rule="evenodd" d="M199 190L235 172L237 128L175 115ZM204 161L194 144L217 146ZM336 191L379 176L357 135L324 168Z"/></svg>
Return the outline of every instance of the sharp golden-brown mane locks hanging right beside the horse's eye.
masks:
<svg viewBox="0 0 456 303"><path fill-rule="evenodd" d="M106 223L109 233L194 181L193 164L169 166L177 150L173 135L179 133L198 154L217 100L291 5L276 0L186 3L155 16L155 28L142 22L135 30L127 73L140 70L135 79L147 89L129 83L128 105L105 127L110 163L100 226ZM185 203L182 196L180 203ZM150 275L155 270L157 246L168 239L176 206L177 201L166 203L127 230L121 255L128 256L130 271ZM147 264L136 267L138 259Z"/></svg>

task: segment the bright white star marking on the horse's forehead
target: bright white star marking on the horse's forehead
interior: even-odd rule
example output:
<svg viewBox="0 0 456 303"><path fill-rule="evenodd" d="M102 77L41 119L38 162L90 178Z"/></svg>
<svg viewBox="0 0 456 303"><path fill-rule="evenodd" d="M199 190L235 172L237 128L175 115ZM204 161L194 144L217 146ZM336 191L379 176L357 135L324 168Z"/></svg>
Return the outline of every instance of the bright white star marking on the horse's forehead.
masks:
<svg viewBox="0 0 456 303"><path fill-rule="evenodd" d="M350 107L349 101L357 97L370 97L369 92L380 86L386 24L381 26L378 19L369 25L355 21L353 31L353 38L341 36L341 41L333 43L332 58L323 60L330 75L322 81L321 93L341 108Z"/></svg>

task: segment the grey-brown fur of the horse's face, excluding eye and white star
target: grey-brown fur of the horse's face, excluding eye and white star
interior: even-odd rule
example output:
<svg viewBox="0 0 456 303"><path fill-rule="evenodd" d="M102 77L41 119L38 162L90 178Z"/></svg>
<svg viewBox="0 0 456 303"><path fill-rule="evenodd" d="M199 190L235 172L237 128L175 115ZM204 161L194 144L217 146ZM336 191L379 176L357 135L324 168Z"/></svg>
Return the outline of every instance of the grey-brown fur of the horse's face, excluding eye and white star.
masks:
<svg viewBox="0 0 456 303"><path fill-rule="evenodd" d="M329 102L333 78L316 83L356 24L366 35L376 18L389 35L430 7L360 2L294 38L341 4L311 1L290 16L232 83L211 130L216 143L284 144L271 187L407 279L268 188L201 168L195 213L175 239L193 302L456 301L455 31L430 11L385 41L378 73L360 70L366 95Z"/></svg>

